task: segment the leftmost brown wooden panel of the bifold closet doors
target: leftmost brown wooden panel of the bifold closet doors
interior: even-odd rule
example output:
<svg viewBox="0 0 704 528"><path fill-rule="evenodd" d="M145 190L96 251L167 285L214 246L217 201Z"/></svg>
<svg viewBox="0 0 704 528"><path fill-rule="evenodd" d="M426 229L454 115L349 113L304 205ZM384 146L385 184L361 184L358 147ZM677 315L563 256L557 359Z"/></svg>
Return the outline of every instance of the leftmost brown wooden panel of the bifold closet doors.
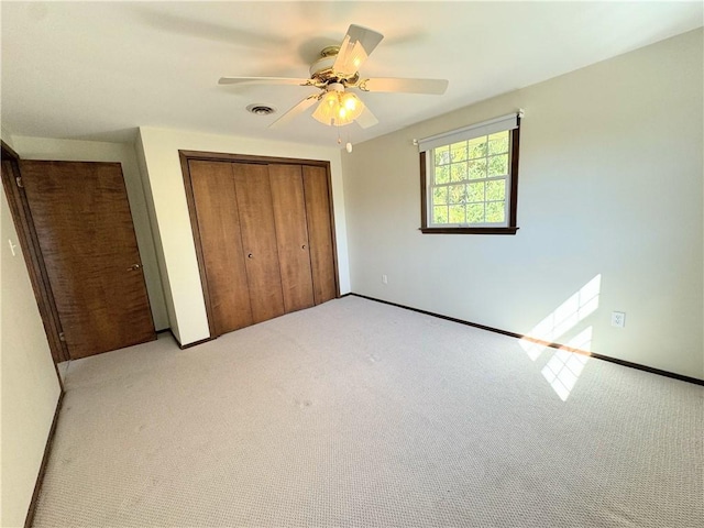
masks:
<svg viewBox="0 0 704 528"><path fill-rule="evenodd" d="M188 162L213 338L252 324L234 174L229 162Z"/></svg>

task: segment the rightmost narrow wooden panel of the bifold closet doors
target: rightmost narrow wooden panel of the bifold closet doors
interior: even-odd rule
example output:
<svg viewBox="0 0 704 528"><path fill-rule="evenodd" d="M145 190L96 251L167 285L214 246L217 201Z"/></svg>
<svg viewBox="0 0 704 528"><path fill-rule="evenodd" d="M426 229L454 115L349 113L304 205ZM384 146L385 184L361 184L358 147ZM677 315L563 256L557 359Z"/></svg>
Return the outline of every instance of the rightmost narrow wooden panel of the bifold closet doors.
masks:
<svg viewBox="0 0 704 528"><path fill-rule="evenodd" d="M314 296L319 305L338 295L330 189L323 167L304 165L302 174Z"/></svg>

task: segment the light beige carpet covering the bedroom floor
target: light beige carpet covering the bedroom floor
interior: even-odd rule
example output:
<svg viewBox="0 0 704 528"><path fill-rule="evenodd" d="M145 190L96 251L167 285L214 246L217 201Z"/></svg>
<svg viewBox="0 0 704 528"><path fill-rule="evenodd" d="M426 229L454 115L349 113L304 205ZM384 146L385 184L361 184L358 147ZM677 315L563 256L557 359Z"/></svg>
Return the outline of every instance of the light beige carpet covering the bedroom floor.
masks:
<svg viewBox="0 0 704 528"><path fill-rule="evenodd" d="M34 526L701 527L704 388L571 358L346 297L79 360Z"/></svg>

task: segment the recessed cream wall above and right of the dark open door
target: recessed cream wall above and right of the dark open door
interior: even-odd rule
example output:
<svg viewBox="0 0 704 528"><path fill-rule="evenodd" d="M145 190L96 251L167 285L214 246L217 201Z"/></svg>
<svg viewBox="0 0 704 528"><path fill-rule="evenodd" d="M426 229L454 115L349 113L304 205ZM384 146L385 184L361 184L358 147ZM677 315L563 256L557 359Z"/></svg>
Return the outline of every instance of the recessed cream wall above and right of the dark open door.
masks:
<svg viewBox="0 0 704 528"><path fill-rule="evenodd" d="M23 160L54 160L73 162L119 162L130 201L146 290L156 330L168 328L164 292L156 262L156 252L142 187L134 145L100 141L55 140L13 135L14 150Z"/></svg>

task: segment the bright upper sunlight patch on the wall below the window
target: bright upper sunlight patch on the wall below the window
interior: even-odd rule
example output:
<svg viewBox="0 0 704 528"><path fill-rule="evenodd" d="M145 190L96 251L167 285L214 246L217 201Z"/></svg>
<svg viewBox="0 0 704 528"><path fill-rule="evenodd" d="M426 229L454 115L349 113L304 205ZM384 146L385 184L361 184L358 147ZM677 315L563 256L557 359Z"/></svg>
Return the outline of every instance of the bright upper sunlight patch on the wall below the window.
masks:
<svg viewBox="0 0 704 528"><path fill-rule="evenodd" d="M601 288L602 274L600 273L556 308L552 314L536 324L526 337L553 343L565 332L574 328L580 321L584 320L590 314L596 311ZM528 339L521 339L520 345L532 361L536 361L542 351L546 350L546 345L535 343ZM574 348L581 349L581 346Z"/></svg>

